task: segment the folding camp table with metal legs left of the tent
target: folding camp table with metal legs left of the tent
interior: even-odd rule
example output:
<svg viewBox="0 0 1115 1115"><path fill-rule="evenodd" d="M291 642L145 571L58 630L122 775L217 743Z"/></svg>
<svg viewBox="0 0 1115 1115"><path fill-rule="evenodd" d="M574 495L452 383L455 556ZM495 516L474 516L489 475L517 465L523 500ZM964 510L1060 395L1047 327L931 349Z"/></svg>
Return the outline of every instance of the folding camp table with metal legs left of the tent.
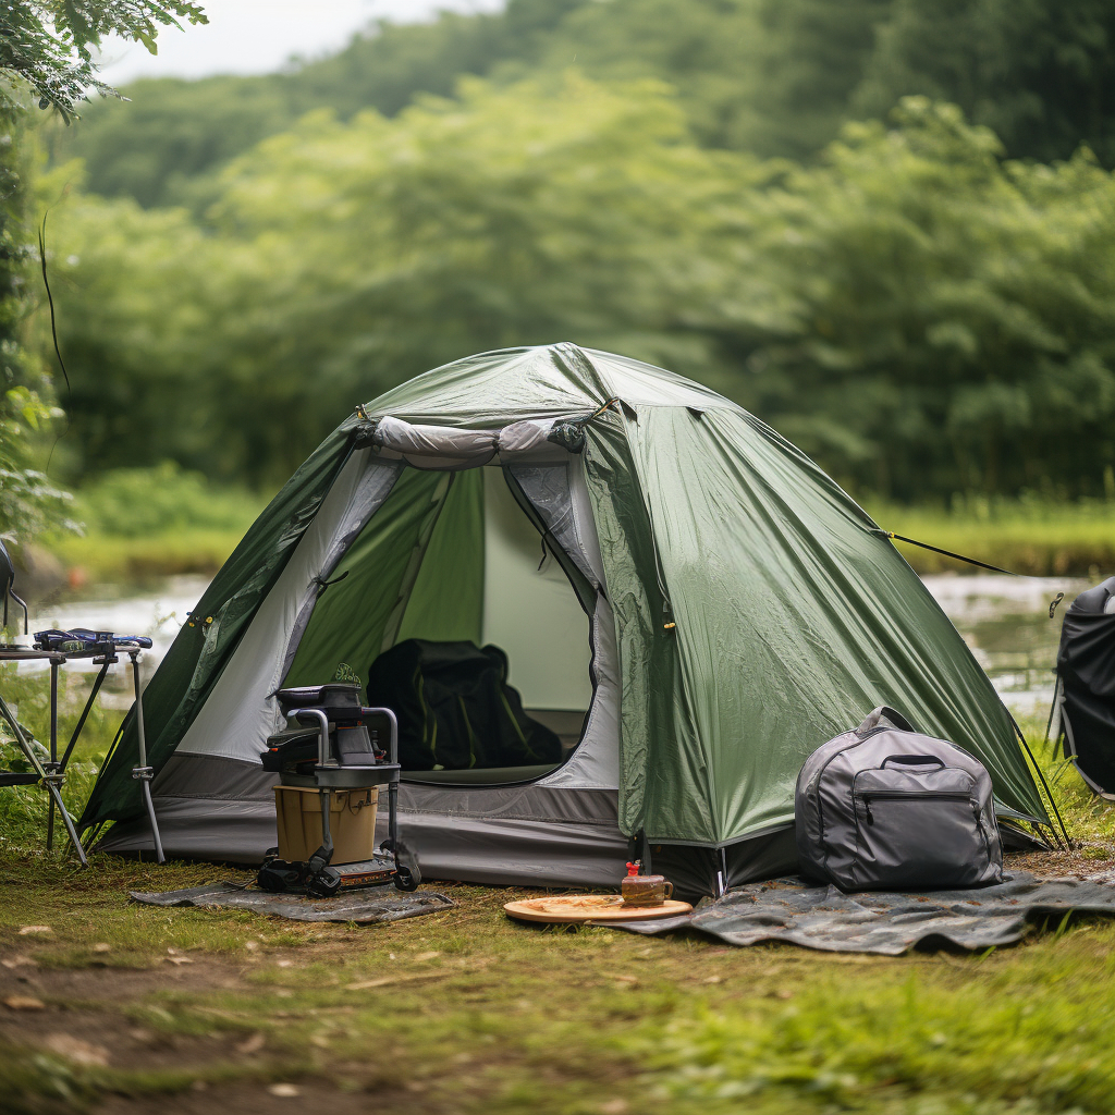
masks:
<svg viewBox="0 0 1115 1115"><path fill-rule="evenodd" d="M143 651L143 646L138 639L134 638L120 638L108 632L98 632L97 640L91 646L88 646L81 650L43 650L37 647L18 647L18 646L0 646L0 662L49 662L50 663L50 758L46 762L39 759L38 755L35 754L35 748L31 746L30 739L27 737L25 729L19 724L16 715L12 712L11 707L3 699L3 695L0 694L0 717L8 721L11 727L12 734L16 737L16 743L19 744L20 750L27 756L28 763L31 764L33 772L16 772L16 770L3 770L0 772L0 787L2 786L33 786L36 784L41 785L46 789L49 797L49 811L47 813L47 850L49 851L54 846L55 838L55 811L57 808L58 814L61 816L62 824L66 826L66 832L69 835L70 842L77 850L77 854L81 860L81 866L87 867L89 861L86 857L85 849L81 846L81 841L77 834L77 830L74 827L74 820L70 817L62 804L61 788L66 782L66 767L69 765L70 756L74 754L74 748L77 746L77 741L81 736L81 730L85 728L86 720L89 718L89 712L93 710L93 702L97 699L97 694L100 691L101 685L104 685L105 676L108 673L108 668L119 661L118 651L124 651L128 658L132 659L132 676L135 682L136 692L136 726L139 731L139 765L134 767L132 770L132 777L137 779L143 786L144 802L147 806L147 815L151 818L152 832L155 834L155 852L158 856L159 863L165 863L166 857L163 855L163 842L158 833L158 824L155 820L155 806L151 797L151 780L154 777L154 768L147 765L147 745L144 737L144 721L143 721L143 699L139 692L139 656ZM149 646L148 640L144 640ZM85 702L85 708L81 710L81 715L78 718L77 726L74 728L74 734L69 738L69 743L66 745L66 750L62 752L62 756L58 757L58 669L65 666L67 661L75 659L91 659L95 666L100 667L96 680L93 683L93 690L89 694L88 700Z"/></svg>

